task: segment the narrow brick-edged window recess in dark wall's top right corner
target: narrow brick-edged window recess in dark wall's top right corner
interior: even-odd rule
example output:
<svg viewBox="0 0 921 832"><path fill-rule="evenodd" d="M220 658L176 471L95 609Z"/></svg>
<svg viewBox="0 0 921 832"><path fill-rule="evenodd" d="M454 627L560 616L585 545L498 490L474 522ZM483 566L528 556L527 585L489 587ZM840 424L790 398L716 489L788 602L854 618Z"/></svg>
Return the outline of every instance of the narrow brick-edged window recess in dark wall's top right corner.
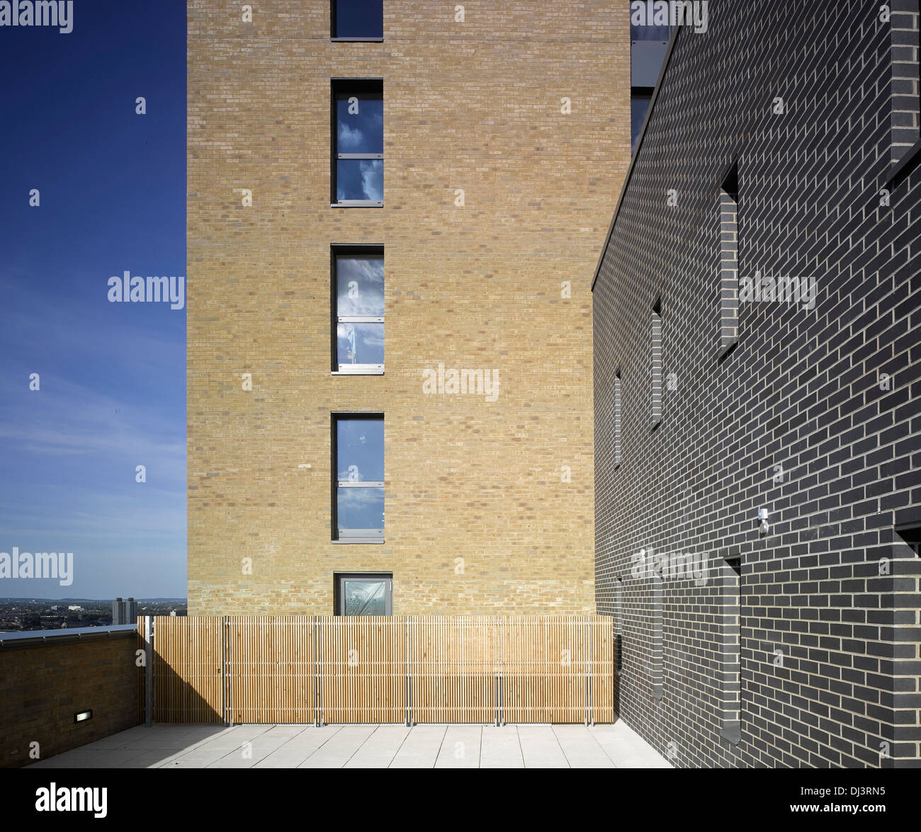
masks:
<svg viewBox="0 0 921 832"><path fill-rule="evenodd" d="M918 0L892 0L889 19L892 162L901 161L921 137L921 78L919 78Z"/></svg>

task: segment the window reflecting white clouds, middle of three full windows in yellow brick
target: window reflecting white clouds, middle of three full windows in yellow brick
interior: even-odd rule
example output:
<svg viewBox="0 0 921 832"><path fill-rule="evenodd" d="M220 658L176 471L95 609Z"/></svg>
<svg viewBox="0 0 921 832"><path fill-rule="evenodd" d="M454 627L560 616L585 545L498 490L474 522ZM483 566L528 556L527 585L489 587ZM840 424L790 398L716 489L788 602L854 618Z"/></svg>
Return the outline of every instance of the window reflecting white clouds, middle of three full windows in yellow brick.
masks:
<svg viewBox="0 0 921 832"><path fill-rule="evenodd" d="M384 249L332 248L332 369L337 373L384 372Z"/></svg>

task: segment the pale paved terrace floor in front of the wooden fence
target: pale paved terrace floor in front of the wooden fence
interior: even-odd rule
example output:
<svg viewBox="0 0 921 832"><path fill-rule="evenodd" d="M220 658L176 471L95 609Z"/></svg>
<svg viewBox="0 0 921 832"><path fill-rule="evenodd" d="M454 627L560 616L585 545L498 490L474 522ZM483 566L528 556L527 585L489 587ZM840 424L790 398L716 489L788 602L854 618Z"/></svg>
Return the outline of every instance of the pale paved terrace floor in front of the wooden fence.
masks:
<svg viewBox="0 0 921 832"><path fill-rule="evenodd" d="M29 768L671 768L612 725L138 725Z"/></svg>

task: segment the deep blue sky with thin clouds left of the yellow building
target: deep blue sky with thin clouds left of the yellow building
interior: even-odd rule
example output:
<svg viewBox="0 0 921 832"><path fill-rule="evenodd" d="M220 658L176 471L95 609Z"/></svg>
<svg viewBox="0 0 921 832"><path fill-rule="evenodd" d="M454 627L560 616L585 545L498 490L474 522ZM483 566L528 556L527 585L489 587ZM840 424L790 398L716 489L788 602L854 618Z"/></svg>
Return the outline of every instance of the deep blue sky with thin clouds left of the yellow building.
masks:
<svg viewBox="0 0 921 832"><path fill-rule="evenodd" d="M185 308L108 282L185 275L185 4L73 17L0 27L0 552L72 551L74 581L0 596L184 597Z"/></svg>

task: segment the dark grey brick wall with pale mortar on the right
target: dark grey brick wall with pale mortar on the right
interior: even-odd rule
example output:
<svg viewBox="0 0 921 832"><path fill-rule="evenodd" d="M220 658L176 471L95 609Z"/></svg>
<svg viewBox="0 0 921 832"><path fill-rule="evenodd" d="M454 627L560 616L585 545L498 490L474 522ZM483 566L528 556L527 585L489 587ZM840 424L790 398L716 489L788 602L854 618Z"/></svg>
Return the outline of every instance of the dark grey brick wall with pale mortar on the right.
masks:
<svg viewBox="0 0 921 832"><path fill-rule="evenodd" d="M863 0L711 0L708 31L675 40L596 276L598 609L618 710L676 766L921 763L921 560L895 531L921 524L921 171L893 127L916 135L911 8L893 34ZM814 278L814 306L740 292L727 348L736 265ZM661 575L638 568L650 549Z"/></svg>

